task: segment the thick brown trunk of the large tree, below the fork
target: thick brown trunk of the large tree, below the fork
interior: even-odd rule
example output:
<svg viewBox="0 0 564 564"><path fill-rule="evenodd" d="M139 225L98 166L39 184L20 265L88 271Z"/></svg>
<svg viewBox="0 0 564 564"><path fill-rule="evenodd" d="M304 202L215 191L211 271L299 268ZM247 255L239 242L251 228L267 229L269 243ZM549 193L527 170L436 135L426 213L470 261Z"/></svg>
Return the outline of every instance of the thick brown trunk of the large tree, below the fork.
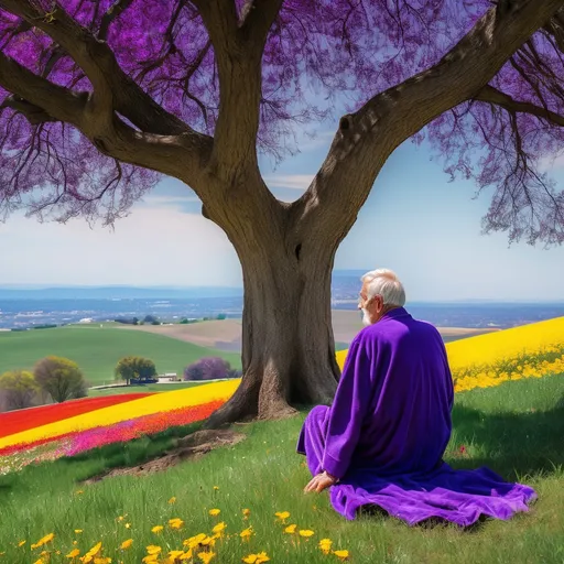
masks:
<svg viewBox="0 0 564 564"><path fill-rule="evenodd" d="M257 230L254 230L257 234ZM275 234L290 232L288 240ZM293 229L234 240L243 273L241 384L207 422L280 419L299 404L327 403L336 390L330 314L335 250L317 234Z"/></svg>

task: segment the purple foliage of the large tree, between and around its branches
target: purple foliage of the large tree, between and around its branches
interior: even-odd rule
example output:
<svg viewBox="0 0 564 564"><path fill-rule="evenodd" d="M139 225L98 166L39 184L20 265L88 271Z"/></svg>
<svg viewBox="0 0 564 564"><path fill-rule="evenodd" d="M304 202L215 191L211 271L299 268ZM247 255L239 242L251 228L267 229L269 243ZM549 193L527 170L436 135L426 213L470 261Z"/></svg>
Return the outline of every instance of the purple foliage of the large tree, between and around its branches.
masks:
<svg viewBox="0 0 564 564"><path fill-rule="evenodd" d="M234 1L242 18L247 2ZM48 19L54 3L34 4ZM214 133L219 106L214 48L192 2L124 2L127 8L111 23L107 13L118 4L115 0L58 4L106 40L124 73L165 110L196 130ZM296 127L326 118L337 97L357 109L375 94L434 65L491 6L489 0L285 0L262 57L259 149L281 155L292 150ZM0 48L54 84L91 91L67 53L6 10L0 10ZM541 30L490 84L520 101L562 113L562 52ZM7 96L0 88L0 102ZM69 124L32 126L2 106L0 132L3 214L25 207L41 217L101 215L111 223L159 181L153 171L102 155ZM425 134L447 159L448 173L475 178L480 189L496 187L486 230L510 228L510 239L524 235L531 242L539 237L562 240L562 231L553 231L555 224L564 223L564 196L554 193L539 166L540 159L562 148L557 126L473 101L441 116L414 140L421 142ZM531 207L538 210L533 219L528 215Z"/></svg>

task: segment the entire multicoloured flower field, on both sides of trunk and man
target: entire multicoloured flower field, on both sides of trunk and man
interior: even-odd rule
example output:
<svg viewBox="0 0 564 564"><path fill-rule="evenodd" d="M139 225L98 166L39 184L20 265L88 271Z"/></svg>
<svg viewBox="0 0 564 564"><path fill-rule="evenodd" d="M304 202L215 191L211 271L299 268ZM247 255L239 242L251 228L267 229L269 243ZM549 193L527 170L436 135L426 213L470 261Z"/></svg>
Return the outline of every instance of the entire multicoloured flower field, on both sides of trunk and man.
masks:
<svg viewBox="0 0 564 564"><path fill-rule="evenodd" d="M456 340L446 350L457 392L564 373L564 317ZM346 354L337 352L341 369ZM90 398L0 414L0 474L203 421L239 383Z"/></svg>

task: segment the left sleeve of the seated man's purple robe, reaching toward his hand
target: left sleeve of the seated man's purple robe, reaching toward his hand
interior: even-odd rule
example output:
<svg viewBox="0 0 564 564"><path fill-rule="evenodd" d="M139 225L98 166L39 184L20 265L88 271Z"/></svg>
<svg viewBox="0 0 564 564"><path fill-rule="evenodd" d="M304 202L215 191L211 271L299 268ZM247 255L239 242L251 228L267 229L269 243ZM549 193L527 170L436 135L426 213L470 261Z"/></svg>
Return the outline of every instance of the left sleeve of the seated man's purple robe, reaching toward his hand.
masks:
<svg viewBox="0 0 564 564"><path fill-rule="evenodd" d="M360 437L372 397L373 360L362 338L350 345L329 412L322 468L341 478Z"/></svg>

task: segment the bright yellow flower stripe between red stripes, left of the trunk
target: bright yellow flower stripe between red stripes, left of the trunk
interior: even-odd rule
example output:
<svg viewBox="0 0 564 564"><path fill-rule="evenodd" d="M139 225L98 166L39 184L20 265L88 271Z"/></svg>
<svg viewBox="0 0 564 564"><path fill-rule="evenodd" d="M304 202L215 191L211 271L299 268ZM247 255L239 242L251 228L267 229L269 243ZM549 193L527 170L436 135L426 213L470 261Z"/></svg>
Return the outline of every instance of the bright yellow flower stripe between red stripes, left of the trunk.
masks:
<svg viewBox="0 0 564 564"><path fill-rule="evenodd" d="M112 425L129 419L142 417L181 408L202 405L216 400L228 400L238 388L241 379L214 382L184 390L155 393L140 400L83 413L47 425L22 431L0 438L0 448L18 444L33 443L42 438L65 435L77 431L87 431L101 425Z"/></svg>

